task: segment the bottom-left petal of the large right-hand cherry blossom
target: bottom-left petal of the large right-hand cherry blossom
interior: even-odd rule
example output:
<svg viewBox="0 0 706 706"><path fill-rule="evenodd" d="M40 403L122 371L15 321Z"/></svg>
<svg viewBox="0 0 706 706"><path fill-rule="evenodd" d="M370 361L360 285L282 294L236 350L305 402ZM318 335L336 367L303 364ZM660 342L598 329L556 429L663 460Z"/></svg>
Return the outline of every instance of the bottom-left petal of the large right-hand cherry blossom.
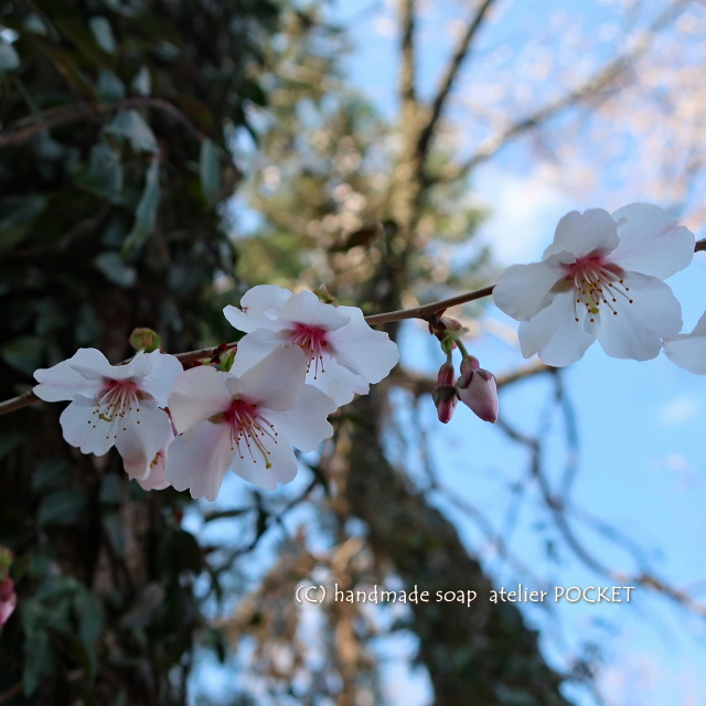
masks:
<svg viewBox="0 0 706 706"><path fill-rule="evenodd" d="M547 365L561 367L584 356L596 338L584 328L585 310L577 310L576 321L574 304L573 290L559 292L536 317L520 324L517 335L525 357L536 353Z"/></svg>

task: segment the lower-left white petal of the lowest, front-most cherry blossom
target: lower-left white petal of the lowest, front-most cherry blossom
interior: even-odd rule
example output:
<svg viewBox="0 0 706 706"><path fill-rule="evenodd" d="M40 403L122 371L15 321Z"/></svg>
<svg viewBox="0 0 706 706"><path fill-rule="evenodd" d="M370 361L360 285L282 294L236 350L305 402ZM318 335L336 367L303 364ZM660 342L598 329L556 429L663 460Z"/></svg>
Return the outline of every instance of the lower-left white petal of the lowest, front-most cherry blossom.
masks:
<svg viewBox="0 0 706 706"><path fill-rule="evenodd" d="M171 442L164 474L176 490L213 502L235 456L229 425L202 421Z"/></svg>

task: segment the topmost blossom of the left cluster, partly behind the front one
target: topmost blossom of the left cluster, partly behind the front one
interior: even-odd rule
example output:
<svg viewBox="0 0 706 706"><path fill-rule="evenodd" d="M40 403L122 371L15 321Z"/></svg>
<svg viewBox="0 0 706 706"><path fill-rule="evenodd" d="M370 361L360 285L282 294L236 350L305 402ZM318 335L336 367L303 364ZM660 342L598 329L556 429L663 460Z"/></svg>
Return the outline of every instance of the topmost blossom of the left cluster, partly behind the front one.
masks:
<svg viewBox="0 0 706 706"><path fill-rule="evenodd" d="M274 285L253 287L242 309L227 306L225 318L245 335L237 359L247 367L282 343L299 346L307 360L307 382L338 405L364 395L397 364L397 345L367 325L356 307L334 307L311 291L292 295Z"/></svg>

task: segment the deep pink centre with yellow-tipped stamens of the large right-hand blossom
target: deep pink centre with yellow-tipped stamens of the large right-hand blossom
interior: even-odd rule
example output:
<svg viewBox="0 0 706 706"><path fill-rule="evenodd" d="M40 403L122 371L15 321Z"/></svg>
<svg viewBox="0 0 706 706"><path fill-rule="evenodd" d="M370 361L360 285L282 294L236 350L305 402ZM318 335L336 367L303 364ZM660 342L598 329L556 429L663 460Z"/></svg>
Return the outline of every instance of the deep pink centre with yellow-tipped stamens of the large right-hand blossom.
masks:
<svg viewBox="0 0 706 706"><path fill-rule="evenodd" d="M579 320L576 304L582 304L588 312L589 321L596 321L603 304L613 315L618 315L618 297L632 303L628 295L629 287L623 281L624 271L603 256L588 255L579 257L575 263L564 266L566 281L574 287L574 318Z"/></svg>

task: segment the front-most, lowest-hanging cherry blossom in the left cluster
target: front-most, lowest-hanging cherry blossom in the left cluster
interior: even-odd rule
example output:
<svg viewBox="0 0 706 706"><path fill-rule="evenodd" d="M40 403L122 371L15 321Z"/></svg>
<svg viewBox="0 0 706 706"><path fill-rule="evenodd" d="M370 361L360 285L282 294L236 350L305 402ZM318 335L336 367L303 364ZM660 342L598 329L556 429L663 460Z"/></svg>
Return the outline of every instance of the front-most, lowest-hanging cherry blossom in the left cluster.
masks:
<svg viewBox="0 0 706 706"><path fill-rule="evenodd" d="M214 501L231 469L266 490L297 474L290 445L312 451L333 434L327 416L335 403L304 384L307 359L278 346L247 370L193 367L174 382L169 408L176 431L167 457L167 480L176 490Z"/></svg>

